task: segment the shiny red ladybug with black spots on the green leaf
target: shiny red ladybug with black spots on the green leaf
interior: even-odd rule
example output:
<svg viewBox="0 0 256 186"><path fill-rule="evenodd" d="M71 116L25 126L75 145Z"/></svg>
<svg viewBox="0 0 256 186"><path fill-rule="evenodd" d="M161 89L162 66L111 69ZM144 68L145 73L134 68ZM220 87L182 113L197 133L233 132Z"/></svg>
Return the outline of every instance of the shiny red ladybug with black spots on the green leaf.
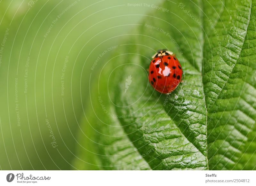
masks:
<svg viewBox="0 0 256 186"><path fill-rule="evenodd" d="M155 90L170 94L180 84L183 70L173 52L159 50L149 66L148 80Z"/></svg>

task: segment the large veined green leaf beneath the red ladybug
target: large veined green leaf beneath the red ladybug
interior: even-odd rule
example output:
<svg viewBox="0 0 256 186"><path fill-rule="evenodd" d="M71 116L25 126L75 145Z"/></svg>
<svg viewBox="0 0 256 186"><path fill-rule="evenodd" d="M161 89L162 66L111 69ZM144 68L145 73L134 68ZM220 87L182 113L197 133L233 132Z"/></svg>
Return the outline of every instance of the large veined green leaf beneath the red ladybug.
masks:
<svg viewBox="0 0 256 186"><path fill-rule="evenodd" d="M145 16L97 67L74 164L255 170L256 1L166 1L159 7L166 11ZM184 69L184 82L170 95L154 91L146 71L150 56L163 48Z"/></svg>

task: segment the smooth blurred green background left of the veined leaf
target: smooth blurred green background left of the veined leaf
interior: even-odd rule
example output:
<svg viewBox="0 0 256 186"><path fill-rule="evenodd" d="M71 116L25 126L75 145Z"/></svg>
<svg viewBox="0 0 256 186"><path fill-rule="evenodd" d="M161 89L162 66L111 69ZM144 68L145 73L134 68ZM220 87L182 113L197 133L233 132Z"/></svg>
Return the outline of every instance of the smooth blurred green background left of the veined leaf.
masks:
<svg viewBox="0 0 256 186"><path fill-rule="evenodd" d="M0 169L76 169L97 58L154 10L132 3L161 1L0 1Z"/></svg>

